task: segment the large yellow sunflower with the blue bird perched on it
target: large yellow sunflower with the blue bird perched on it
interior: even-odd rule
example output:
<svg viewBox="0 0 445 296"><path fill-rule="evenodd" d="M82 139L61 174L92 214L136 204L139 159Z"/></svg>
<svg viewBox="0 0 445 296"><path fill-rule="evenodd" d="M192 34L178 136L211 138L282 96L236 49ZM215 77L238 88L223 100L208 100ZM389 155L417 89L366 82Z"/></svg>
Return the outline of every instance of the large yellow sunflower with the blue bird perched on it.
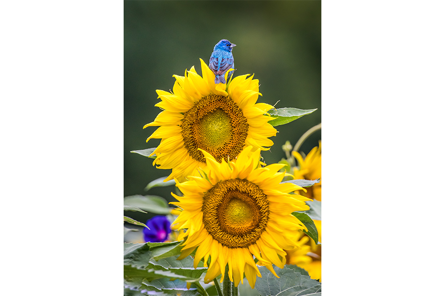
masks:
<svg viewBox="0 0 445 296"><path fill-rule="evenodd" d="M156 154L153 165L173 169L165 181L199 176L197 169L206 167L202 150L221 163L234 159L245 146L267 150L273 145L268 137L275 136L276 129L268 121L274 118L267 113L273 107L256 104L262 96L258 79L246 74L228 86L215 84L215 74L203 60L201 69L202 77L194 66L184 76L173 75L173 92L156 90L161 102L155 106L163 111L144 126L159 126L147 142L162 139L152 155Z"/></svg>

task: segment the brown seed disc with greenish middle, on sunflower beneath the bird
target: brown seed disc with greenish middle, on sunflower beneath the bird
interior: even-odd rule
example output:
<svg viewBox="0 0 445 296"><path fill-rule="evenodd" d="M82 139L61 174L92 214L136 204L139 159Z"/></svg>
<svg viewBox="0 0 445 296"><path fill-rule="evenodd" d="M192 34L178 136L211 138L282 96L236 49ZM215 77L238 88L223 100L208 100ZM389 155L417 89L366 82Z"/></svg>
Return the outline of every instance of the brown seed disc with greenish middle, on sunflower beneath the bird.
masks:
<svg viewBox="0 0 445 296"><path fill-rule="evenodd" d="M185 112L181 128L185 148L193 159L205 162L201 148L221 162L241 152L249 125L232 99L209 95Z"/></svg>

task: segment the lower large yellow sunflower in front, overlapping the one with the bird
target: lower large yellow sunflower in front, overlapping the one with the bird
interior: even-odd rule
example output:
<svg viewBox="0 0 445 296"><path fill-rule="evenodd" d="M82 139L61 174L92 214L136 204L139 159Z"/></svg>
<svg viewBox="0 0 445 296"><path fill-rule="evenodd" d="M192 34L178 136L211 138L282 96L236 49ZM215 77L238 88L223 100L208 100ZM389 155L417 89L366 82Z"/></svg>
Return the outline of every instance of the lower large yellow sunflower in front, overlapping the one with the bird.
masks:
<svg viewBox="0 0 445 296"><path fill-rule="evenodd" d="M284 250L298 246L298 230L306 226L291 213L308 210L305 201L310 199L288 194L302 187L280 184L285 173L278 170L284 164L261 167L260 149L248 146L228 163L202 153L207 164L207 171L200 170L203 177L177 182L184 196L172 193L178 199L172 204L182 209L172 228L187 229L179 235L186 239L178 259L197 248L194 267L204 258L209 267L206 282L223 274L222 282L228 264L228 277L235 286L245 274L253 288L256 276L261 277L257 264L276 275L272 264L283 268Z"/></svg>

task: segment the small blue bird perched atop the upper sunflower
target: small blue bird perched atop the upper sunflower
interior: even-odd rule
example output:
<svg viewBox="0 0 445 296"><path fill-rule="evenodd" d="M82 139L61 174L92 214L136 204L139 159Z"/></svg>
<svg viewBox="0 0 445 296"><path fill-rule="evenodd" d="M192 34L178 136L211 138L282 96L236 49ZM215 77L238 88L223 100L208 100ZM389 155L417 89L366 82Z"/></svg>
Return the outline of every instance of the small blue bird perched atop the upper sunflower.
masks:
<svg viewBox="0 0 445 296"><path fill-rule="evenodd" d="M225 83L224 74L229 69L235 69L233 65L232 47L236 44L230 43L227 39L222 39L213 48L210 56L209 68L215 73L215 83ZM233 74L233 71L231 71ZM229 75L231 75L229 73Z"/></svg>

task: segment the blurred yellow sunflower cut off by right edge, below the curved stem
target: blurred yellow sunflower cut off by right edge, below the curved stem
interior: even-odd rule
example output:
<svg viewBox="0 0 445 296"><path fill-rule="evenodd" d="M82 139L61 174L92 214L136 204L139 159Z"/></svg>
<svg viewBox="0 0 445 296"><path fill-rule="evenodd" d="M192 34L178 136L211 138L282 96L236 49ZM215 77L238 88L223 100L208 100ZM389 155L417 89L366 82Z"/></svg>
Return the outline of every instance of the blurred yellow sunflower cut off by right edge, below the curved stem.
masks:
<svg viewBox="0 0 445 296"><path fill-rule="evenodd" d="M321 179L321 141L318 142L318 147L306 155L305 159L300 153L293 151L292 155L298 160L299 168L294 168L294 179L315 180ZM315 183L312 187L307 188L307 192L301 192L302 195L311 199L321 201L321 181Z"/></svg>

